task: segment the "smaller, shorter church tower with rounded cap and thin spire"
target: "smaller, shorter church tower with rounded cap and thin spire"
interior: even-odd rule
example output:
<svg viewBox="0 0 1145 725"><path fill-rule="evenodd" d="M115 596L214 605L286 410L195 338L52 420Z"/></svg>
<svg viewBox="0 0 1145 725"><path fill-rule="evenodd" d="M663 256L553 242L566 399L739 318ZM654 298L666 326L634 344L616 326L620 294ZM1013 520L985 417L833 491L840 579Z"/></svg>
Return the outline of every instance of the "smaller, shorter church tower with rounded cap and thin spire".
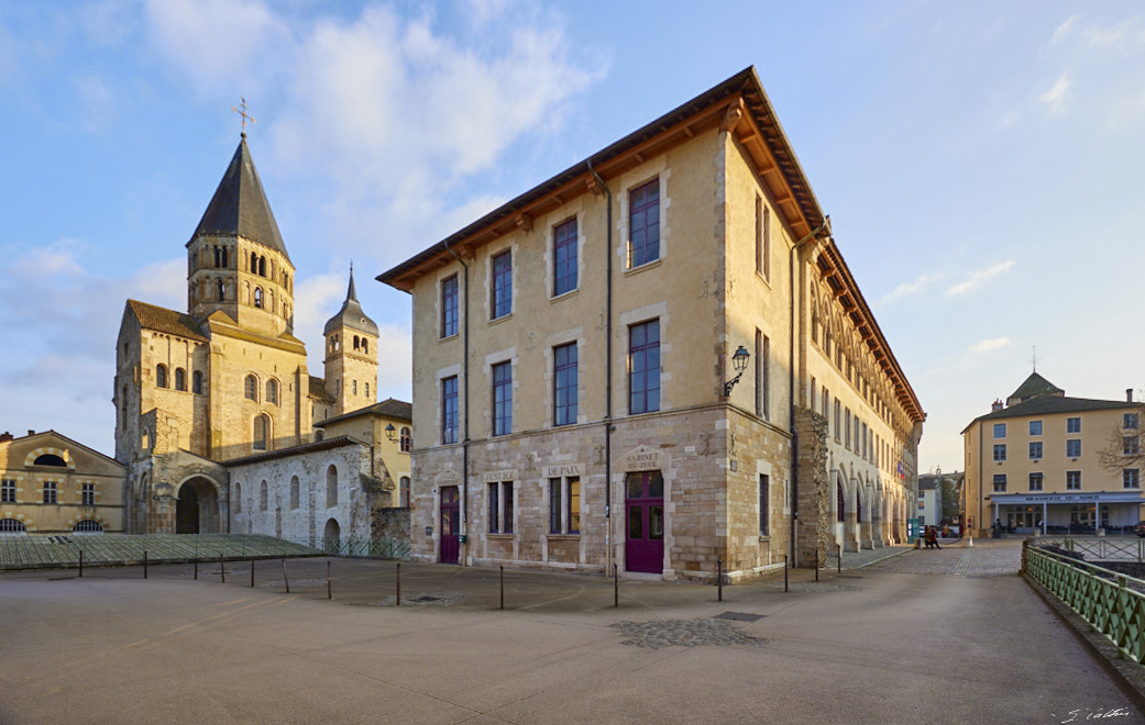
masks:
<svg viewBox="0 0 1145 725"><path fill-rule="evenodd" d="M378 399L378 326L358 304L353 265L346 301L324 333L326 392L334 398L333 415L373 405Z"/></svg>

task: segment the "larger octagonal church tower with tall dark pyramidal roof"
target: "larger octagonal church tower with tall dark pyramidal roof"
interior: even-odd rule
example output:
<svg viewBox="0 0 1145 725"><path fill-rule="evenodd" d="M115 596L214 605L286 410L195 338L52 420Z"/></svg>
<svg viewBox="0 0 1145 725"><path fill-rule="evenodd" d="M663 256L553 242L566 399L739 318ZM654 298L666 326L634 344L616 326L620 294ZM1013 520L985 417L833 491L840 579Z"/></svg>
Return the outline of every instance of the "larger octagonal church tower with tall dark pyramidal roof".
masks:
<svg viewBox="0 0 1145 725"><path fill-rule="evenodd" d="M187 242L187 310L277 337L294 328L294 265L243 134Z"/></svg>

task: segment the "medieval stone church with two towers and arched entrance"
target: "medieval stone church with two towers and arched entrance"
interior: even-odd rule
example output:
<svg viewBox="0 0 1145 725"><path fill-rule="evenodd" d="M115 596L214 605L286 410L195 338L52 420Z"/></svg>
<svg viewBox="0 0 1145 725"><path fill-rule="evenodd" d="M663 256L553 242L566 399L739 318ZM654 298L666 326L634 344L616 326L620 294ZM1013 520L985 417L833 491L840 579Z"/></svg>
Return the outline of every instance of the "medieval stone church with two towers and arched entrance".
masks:
<svg viewBox="0 0 1145 725"><path fill-rule="evenodd" d="M245 134L187 242L187 312L128 300L119 328L127 531L369 532L369 511L395 495L381 452L371 439L315 441L314 423L374 404L378 326L350 270L324 330L325 375L310 375L293 334L294 265Z"/></svg>

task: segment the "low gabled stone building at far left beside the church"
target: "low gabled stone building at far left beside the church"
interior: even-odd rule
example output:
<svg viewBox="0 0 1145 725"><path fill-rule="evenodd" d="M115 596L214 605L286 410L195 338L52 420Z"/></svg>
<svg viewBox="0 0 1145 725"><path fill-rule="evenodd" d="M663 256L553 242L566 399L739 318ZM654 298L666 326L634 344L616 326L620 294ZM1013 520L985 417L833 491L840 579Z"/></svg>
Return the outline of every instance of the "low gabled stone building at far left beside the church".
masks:
<svg viewBox="0 0 1145 725"><path fill-rule="evenodd" d="M54 430L0 435L0 534L123 531L123 464Z"/></svg>

